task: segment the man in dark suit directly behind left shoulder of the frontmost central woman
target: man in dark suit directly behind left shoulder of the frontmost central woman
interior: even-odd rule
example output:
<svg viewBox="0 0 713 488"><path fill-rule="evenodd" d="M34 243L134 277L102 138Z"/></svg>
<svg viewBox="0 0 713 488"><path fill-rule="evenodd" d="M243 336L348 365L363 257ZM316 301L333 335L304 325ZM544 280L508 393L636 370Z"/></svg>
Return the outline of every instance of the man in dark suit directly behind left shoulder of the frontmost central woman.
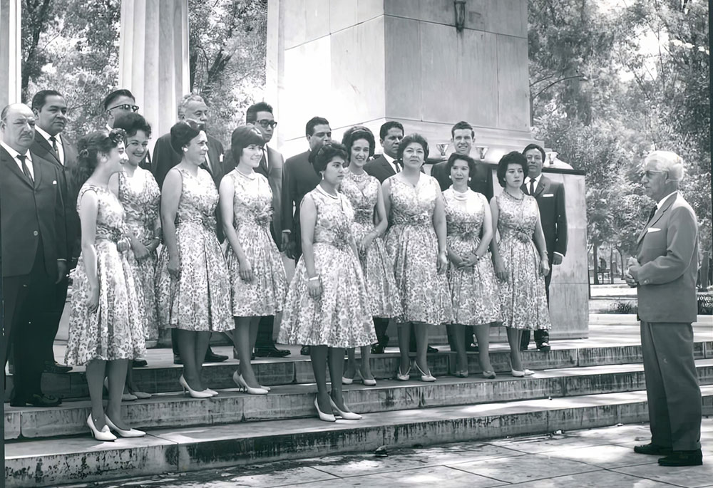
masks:
<svg viewBox="0 0 713 488"><path fill-rule="evenodd" d="M299 233L299 204L304 195L319 184L309 157L326 142L332 141L332 128L323 117L312 117L304 128L309 149L287 158L282 171L282 249L289 259L297 261L302 256ZM309 346L302 346L301 355L309 355Z"/></svg>

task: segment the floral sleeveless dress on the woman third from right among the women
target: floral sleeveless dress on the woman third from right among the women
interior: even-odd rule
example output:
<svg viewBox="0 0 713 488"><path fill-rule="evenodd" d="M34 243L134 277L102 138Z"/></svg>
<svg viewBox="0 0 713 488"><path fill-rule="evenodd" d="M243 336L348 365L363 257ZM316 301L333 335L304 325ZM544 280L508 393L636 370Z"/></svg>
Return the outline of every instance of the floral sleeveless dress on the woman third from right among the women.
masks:
<svg viewBox="0 0 713 488"><path fill-rule="evenodd" d="M404 312L400 322L451 323L453 308L448 279L438 274L438 239L433 215L441 187L421 175L416 187L396 175L391 183L391 214L386 251L394 261L396 286Z"/></svg>

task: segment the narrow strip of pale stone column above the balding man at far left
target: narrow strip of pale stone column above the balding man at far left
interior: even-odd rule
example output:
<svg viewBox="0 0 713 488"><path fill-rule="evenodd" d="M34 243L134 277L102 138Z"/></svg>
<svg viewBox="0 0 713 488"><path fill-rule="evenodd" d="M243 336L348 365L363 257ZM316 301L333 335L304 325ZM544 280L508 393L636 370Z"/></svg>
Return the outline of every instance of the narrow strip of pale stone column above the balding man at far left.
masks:
<svg viewBox="0 0 713 488"><path fill-rule="evenodd" d="M21 2L0 0L0 108L21 101Z"/></svg>

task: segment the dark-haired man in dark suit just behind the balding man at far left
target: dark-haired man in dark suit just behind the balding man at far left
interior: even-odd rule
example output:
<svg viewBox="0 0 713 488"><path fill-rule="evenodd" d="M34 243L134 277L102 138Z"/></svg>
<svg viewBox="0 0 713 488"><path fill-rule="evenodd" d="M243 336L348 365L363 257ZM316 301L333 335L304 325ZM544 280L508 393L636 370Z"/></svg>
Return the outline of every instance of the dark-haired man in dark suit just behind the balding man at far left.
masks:
<svg viewBox="0 0 713 488"><path fill-rule="evenodd" d="M70 260L69 269L77 265L81 251L81 226L77 214L76 202L71 202L69 182L71 182L71 169L76 165L77 152L73 144L62 134L67 123L67 103L61 93L55 90L41 90L32 98L32 112L35 115L35 137L30 146L33 154L39 155L43 160L55 165L60 180L60 190L65 206L67 249ZM46 320L47 332L45 338L38 338L38 345L44 350L44 370L48 373L68 373L70 366L58 364L54 360L53 343L59 330L59 321L62 318L67 301L67 288L69 279L62 277L54 287L54 306L48 310Z"/></svg>

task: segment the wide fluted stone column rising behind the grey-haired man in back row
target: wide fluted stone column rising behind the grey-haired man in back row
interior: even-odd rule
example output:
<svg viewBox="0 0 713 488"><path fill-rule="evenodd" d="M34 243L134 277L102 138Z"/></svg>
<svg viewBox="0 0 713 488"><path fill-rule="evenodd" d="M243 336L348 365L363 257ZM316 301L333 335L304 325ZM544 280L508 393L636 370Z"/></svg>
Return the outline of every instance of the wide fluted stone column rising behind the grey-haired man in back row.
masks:
<svg viewBox="0 0 713 488"><path fill-rule="evenodd" d="M170 130L190 86L188 0L121 2L118 86L135 95L153 140Z"/></svg>

